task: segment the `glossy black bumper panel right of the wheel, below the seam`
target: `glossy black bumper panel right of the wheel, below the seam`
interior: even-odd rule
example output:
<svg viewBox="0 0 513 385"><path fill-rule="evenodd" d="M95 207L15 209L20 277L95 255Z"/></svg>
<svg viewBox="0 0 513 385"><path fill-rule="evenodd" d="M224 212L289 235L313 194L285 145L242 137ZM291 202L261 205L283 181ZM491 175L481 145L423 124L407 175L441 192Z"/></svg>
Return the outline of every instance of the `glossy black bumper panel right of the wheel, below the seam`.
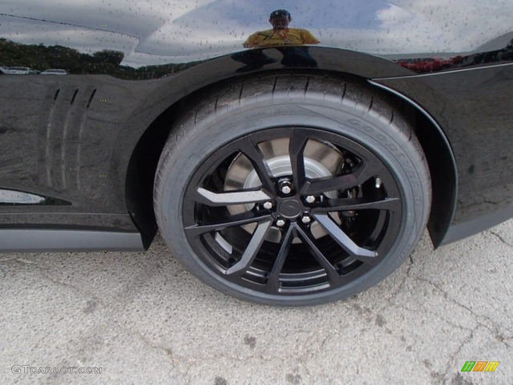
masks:
<svg viewBox="0 0 513 385"><path fill-rule="evenodd" d="M513 64L377 82L416 100L444 128L458 165L453 223L513 205Z"/></svg>

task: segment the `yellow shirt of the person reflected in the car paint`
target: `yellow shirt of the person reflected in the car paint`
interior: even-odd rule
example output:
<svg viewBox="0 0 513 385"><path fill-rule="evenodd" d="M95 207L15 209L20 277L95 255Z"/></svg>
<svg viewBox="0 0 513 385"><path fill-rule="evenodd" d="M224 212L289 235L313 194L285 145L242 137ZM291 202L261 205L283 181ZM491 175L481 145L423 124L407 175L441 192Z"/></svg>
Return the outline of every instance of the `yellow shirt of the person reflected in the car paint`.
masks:
<svg viewBox="0 0 513 385"><path fill-rule="evenodd" d="M269 29L253 33L243 44L245 48L318 44L319 40L306 29L287 28L280 30Z"/></svg>

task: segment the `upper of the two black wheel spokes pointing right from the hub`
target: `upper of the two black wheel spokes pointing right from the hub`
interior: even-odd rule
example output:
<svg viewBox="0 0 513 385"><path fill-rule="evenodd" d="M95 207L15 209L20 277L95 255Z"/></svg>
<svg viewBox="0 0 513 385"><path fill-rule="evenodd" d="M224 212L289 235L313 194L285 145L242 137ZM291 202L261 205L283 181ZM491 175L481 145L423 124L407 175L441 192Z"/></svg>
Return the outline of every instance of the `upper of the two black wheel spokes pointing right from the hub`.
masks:
<svg viewBox="0 0 513 385"><path fill-rule="evenodd" d="M319 179L314 181L307 181L301 189L303 195L316 195L326 191L333 190L347 190L348 188L363 184L374 175L378 175L379 171L376 168L370 167L367 164L359 166L351 174L341 175L334 178Z"/></svg>

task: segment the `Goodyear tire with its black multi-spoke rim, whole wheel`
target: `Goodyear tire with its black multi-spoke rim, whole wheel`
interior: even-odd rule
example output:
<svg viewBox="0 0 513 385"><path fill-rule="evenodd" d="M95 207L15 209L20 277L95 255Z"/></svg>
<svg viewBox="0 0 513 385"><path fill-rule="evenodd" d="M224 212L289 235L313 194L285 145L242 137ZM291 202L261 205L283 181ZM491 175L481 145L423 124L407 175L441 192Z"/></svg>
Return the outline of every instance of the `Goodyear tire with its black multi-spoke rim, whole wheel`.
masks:
<svg viewBox="0 0 513 385"><path fill-rule="evenodd" d="M431 200L401 113L355 81L232 83L180 118L155 176L172 255L217 290L320 304L377 284L411 253Z"/></svg>

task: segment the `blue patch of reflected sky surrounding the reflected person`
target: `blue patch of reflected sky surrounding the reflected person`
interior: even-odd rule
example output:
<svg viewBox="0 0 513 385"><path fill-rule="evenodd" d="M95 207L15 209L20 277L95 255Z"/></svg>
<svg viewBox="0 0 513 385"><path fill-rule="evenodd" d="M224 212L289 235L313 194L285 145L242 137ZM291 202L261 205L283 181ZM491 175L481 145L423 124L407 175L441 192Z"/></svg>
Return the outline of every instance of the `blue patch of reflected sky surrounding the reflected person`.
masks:
<svg viewBox="0 0 513 385"><path fill-rule="evenodd" d="M377 15L388 7L383 0L214 0L163 25L138 50L160 55L240 50L250 34L271 28L269 14L276 9L290 12L290 27L306 28L315 35L328 28L339 34L348 28L371 31L380 27Z"/></svg>

